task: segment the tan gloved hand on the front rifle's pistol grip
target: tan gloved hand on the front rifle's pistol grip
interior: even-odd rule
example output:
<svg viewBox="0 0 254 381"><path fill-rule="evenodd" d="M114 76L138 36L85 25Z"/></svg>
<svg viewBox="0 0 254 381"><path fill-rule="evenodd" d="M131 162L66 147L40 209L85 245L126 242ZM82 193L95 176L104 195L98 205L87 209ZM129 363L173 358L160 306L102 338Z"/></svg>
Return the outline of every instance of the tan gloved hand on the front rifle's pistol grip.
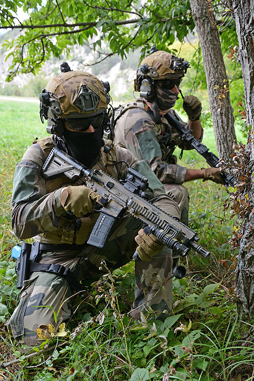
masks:
<svg viewBox="0 0 254 381"><path fill-rule="evenodd" d="M60 203L77 217L83 217L91 213L94 209L94 203L100 203L102 196L93 192L85 185L69 185L62 190L60 194ZM102 204L101 204L102 205Z"/></svg>

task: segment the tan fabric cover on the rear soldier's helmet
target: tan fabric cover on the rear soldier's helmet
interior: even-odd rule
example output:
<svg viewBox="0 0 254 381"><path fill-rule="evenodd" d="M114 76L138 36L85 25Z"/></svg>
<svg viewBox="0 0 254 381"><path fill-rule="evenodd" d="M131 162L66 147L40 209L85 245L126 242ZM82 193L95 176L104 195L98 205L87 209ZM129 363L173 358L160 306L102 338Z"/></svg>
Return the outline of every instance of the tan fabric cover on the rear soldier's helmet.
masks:
<svg viewBox="0 0 254 381"><path fill-rule="evenodd" d="M164 50L158 50L147 57L145 57L141 63L141 65L147 65L148 67L155 68L158 77L154 78L155 80L163 80L166 78L179 78L180 76L183 76L184 73L181 71L175 72L174 70L170 69L172 64L172 57L175 56L165 52Z"/></svg>

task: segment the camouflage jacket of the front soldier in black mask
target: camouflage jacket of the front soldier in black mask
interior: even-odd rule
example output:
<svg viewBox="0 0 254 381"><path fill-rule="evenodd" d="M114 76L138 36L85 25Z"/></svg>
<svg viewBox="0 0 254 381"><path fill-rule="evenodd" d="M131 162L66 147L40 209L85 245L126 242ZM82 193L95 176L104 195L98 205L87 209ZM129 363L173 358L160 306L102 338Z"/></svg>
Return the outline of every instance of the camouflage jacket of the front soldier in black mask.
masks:
<svg viewBox="0 0 254 381"><path fill-rule="evenodd" d="M56 145L56 137L44 138L30 146L24 153L22 160L16 166L13 196L12 196L12 227L20 239L34 237L41 243L76 243L83 244L87 241L98 213L84 217L81 228L76 225L76 218L71 219L59 201L62 186L69 185L70 179L60 176L56 179L45 179L41 176L41 168L51 149ZM112 146L109 154L101 149L98 161L91 168L100 169L120 180L126 176L126 164L113 163L126 161L130 167L141 172L149 180L152 196L165 195L165 189L146 163L138 161L134 155L121 147ZM79 179L73 184L80 185ZM170 199L168 212L179 215L176 203Z"/></svg>

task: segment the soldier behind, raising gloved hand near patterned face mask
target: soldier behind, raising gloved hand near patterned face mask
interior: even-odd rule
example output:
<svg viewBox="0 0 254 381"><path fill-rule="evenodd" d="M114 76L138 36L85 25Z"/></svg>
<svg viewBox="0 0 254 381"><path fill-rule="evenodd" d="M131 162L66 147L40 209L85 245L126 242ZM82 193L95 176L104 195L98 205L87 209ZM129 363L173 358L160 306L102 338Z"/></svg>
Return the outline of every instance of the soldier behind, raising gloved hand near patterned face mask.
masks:
<svg viewBox="0 0 254 381"><path fill-rule="evenodd" d="M183 182L204 179L224 183L219 168L205 170L187 169L177 165L173 154L176 146L191 149L165 118L170 112L180 118L172 107L179 94L179 86L189 63L183 58L153 48L152 54L143 59L135 80L135 90L140 98L115 111L115 141L132 151L139 160L145 160L165 186L167 194L181 210L181 221L188 224L189 196ZM183 99L183 109L188 115L186 130L192 129L194 137L203 138L200 123L202 105L195 96Z"/></svg>

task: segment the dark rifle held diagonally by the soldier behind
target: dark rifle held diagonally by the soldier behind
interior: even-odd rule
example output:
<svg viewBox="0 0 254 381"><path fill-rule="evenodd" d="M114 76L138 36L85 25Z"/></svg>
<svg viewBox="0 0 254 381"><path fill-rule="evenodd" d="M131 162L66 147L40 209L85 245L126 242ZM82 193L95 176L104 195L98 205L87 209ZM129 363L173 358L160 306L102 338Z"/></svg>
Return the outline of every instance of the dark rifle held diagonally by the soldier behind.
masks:
<svg viewBox="0 0 254 381"><path fill-rule="evenodd" d="M219 167L219 158L212 152L209 152L209 148L207 148L203 143L200 143L198 139L193 136L192 130L186 130L184 126L174 118L172 114L169 112L165 115L165 118L168 120L170 125L181 135L182 141L189 143L189 145L196 149L206 160L210 167ZM231 174L221 173L225 183L227 186L235 186L236 178Z"/></svg>

